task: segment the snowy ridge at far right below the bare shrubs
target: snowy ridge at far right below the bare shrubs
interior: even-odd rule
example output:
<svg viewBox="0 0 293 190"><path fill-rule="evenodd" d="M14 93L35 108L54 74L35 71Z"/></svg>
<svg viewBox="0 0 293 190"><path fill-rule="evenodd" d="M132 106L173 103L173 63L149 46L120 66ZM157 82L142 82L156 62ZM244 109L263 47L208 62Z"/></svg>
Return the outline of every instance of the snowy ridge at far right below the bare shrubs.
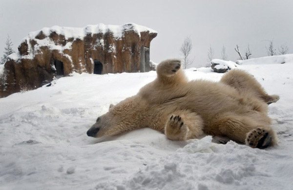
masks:
<svg viewBox="0 0 293 190"><path fill-rule="evenodd" d="M293 63L293 54L237 60L236 63L240 65Z"/></svg>

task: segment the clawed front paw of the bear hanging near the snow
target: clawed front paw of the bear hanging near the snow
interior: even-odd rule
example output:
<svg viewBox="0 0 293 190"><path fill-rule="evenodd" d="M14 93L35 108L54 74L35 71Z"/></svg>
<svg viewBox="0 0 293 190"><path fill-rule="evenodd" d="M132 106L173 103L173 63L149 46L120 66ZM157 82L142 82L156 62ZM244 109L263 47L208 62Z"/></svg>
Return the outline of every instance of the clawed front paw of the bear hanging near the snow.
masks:
<svg viewBox="0 0 293 190"><path fill-rule="evenodd" d="M188 127L179 115L172 115L165 126L165 134L171 140L185 140Z"/></svg>

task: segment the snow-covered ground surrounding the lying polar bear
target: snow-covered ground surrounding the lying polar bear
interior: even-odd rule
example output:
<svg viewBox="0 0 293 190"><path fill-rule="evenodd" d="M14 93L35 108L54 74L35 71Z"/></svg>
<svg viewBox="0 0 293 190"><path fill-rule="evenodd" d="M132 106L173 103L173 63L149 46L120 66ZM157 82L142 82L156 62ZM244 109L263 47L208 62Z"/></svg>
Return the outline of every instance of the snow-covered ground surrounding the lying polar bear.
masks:
<svg viewBox="0 0 293 190"><path fill-rule="evenodd" d="M108 106L156 73L73 74L50 87L0 98L1 190L292 190L293 63L240 65L281 99L269 106L279 145L265 150L211 137L167 140L141 129L95 139L87 129ZM210 68L190 79L217 81Z"/></svg>

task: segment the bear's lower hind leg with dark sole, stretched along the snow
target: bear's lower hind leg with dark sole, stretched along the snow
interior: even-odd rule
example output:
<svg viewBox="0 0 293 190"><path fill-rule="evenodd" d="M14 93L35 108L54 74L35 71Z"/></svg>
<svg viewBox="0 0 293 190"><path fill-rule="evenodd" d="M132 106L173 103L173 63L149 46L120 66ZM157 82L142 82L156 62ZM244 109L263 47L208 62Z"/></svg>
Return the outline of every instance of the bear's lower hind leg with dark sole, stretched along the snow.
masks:
<svg viewBox="0 0 293 190"><path fill-rule="evenodd" d="M262 120L261 117L261 115L222 115L214 120L207 133L224 135L252 148L266 148L275 145L276 134L272 130L269 120L265 118Z"/></svg>

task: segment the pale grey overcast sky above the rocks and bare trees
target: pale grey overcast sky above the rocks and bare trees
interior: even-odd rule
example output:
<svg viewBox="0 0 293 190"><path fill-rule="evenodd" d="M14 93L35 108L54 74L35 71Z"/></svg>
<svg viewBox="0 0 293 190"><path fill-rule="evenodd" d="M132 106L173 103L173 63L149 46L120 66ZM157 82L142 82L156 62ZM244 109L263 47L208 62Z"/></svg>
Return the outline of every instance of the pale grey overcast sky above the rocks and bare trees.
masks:
<svg viewBox="0 0 293 190"><path fill-rule="evenodd" d="M253 57L266 56L267 40L293 53L293 0L0 0L0 53L7 34L17 50L22 38L43 27L128 22L158 31L150 45L154 62L181 57L188 36L195 67L207 63L210 45L214 58L224 45L230 60L238 59L236 44L243 54L249 44Z"/></svg>

